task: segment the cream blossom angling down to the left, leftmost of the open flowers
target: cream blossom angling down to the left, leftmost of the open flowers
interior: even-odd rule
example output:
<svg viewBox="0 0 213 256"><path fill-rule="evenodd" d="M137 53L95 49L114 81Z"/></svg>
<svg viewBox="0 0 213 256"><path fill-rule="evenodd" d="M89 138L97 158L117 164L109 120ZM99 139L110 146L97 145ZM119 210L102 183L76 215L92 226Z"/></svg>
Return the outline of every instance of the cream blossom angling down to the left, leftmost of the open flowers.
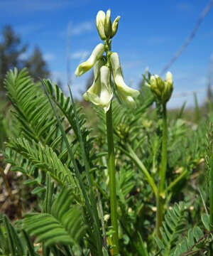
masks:
<svg viewBox="0 0 213 256"><path fill-rule="evenodd" d="M87 72L88 70L90 70L90 68L94 66L97 60L102 57L103 53L104 53L104 44L99 43L92 51L92 54L89 56L88 60L77 66L75 70L75 75L80 76L85 72Z"/></svg>

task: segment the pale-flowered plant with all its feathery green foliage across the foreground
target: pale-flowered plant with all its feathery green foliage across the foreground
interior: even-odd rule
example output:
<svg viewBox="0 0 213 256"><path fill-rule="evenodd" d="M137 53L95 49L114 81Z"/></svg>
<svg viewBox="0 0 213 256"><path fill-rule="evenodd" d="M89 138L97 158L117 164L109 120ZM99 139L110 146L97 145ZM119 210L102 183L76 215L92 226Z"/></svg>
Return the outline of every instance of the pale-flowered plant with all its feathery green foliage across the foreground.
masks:
<svg viewBox="0 0 213 256"><path fill-rule="evenodd" d="M98 12L102 43L75 71L94 67L83 95L93 131L71 90L26 69L6 75L18 135L4 156L38 206L15 223L1 215L0 255L212 255L212 126L192 129L184 107L170 115L171 73L146 73L140 92L126 85L110 16Z"/></svg>

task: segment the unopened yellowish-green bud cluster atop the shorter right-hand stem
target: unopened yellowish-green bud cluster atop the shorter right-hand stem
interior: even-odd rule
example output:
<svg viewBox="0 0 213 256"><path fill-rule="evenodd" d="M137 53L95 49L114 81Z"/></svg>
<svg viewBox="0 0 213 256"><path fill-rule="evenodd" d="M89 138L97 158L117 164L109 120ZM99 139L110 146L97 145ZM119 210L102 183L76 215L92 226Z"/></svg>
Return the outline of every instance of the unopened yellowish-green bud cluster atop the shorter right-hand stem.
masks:
<svg viewBox="0 0 213 256"><path fill-rule="evenodd" d="M165 104L173 93L173 75L170 72L166 73L165 80L158 75L151 75L151 79L146 85L151 88L155 97Z"/></svg>

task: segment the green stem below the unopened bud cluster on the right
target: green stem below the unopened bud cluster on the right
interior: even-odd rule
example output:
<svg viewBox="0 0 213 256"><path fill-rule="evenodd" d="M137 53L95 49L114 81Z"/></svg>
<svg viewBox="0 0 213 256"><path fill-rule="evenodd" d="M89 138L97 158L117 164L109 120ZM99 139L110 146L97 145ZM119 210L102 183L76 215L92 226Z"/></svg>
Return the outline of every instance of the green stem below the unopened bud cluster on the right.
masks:
<svg viewBox="0 0 213 256"><path fill-rule="evenodd" d="M161 148L161 167L159 171L160 183L158 187L158 200L157 200L157 233L160 238L160 227L163 220L163 206L165 203L165 174L167 166L167 114L166 103L163 103L163 136Z"/></svg>

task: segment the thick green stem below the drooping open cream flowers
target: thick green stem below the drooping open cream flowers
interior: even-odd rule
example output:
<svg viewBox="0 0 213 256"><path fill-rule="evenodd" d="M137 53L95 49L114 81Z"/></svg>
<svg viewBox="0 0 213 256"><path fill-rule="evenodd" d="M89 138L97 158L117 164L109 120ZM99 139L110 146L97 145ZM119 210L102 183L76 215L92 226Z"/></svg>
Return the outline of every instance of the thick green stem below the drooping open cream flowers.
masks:
<svg viewBox="0 0 213 256"><path fill-rule="evenodd" d="M110 189L110 208L111 208L111 225L113 226L114 233L112 235L113 255L119 254L119 232L117 220L117 204L116 204L116 176L114 164L114 139L113 139L113 124L111 105L107 111L107 142L108 142L108 170L109 170L109 189Z"/></svg>

